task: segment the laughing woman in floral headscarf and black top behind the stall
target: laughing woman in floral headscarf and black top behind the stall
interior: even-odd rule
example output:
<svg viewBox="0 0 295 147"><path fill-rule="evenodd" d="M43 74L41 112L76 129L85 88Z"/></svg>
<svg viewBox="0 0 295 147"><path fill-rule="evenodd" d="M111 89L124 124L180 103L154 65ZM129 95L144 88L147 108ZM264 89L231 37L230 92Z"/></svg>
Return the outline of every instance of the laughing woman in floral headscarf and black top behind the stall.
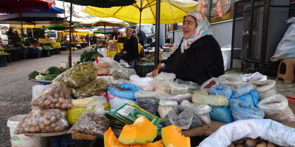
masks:
<svg viewBox="0 0 295 147"><path fill-rule="evenodd" d="M199 11L183 17L183 38L176 51L163 60L152 73L174 73L176 78L203 84L212 77L224 74L223 57L212 36L208 19ZM166 68L162 64L165 64Z"/></svg>

